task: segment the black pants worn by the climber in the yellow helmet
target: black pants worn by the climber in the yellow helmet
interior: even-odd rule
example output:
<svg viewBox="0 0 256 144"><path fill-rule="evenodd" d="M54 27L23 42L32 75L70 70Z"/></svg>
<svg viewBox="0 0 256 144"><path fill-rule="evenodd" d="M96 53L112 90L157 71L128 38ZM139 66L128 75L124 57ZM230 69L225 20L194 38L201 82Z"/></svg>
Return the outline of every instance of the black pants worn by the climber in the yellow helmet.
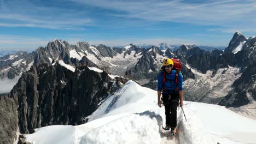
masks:
<svg viewBox="0 0 256 144"><path fill-rule="evenodd" d="M165 106L166 124L177 127L177 106L179 105L179 94L162 94L162 101Z"/></svg>

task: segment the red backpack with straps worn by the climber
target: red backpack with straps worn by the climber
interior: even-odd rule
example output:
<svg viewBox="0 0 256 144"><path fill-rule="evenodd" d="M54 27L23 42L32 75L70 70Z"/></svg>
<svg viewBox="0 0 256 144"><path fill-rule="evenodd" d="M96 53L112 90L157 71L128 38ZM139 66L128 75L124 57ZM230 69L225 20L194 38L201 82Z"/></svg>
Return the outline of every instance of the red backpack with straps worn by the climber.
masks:
<svg viewBox="0 0 256 144"><path fill-rule="evenodd" d="M179 73L181 73L181 69L182 69L182 64L181 62L179 61L179 59L176 59L176 58L172 58L172 61L173 61L173 67L172 69L176 70L176 76L175 76L175 83L177 85L175 91L178 91L178 76L179 76ZM165 90L165 87L164 87L164 83L166 81L166 78L165 78L165 75L166 75L166 71L165 71L165 68L164 66L161 67L161 70L162 71L164 70L164 73L162 73L163 75L163 80L162 80L162 89Z"/></svg>

